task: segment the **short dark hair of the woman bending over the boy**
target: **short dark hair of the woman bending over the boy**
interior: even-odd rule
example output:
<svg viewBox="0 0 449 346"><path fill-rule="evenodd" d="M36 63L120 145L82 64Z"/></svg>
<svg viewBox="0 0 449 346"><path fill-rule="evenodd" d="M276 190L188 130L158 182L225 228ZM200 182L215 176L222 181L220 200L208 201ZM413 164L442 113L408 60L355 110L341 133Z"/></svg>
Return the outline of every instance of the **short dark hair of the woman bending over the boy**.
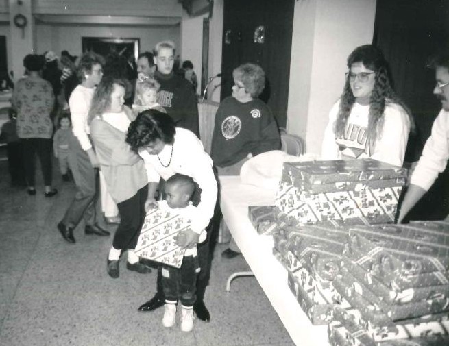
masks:
<svg viewBox="0 0 449 346"><path fill-rule="evenodd" d="M175 121L171 119L171 116L154 109L144 110L128 127L126 143L137 152L155 140L173 144L175 133Z"/></svg>

